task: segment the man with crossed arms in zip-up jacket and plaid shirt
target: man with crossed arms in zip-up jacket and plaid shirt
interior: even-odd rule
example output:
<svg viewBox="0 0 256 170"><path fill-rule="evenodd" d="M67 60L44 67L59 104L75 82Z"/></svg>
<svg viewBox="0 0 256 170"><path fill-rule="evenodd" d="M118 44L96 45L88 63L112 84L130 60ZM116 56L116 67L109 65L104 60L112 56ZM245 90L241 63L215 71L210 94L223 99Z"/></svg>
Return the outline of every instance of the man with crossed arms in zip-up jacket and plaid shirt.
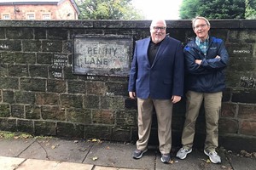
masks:
<svg viewBox="0 0 256 170"><path fill-rule="evenodd" d="M192 151L195 136L195 121L204 101L207 138L204 153L213 163L220 163L221 158L216 152L218 147L218 118L221 108L222 91L225 88L224 68L229 55L224 42L216 37L210 37L210 23L204 17L192 20L195 40L184 48L187 111L183 127L182 144L177 157L186 158Z"/></svg>

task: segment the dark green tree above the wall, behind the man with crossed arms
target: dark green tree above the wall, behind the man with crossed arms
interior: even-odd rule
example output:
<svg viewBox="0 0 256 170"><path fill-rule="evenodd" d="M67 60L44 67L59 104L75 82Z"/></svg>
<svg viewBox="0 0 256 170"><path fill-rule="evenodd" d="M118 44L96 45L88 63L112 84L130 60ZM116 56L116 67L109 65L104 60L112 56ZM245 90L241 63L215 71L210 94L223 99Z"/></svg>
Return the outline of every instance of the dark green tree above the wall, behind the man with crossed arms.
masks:
<svg viewBox="0 0 256 170"><path fill-rule="evenodd" d="M181 19L192 19L196 15L207 19L244 19L246 3L245 0L183 0L181 7ZM184 13L187 15L182 15Z"/></svg>

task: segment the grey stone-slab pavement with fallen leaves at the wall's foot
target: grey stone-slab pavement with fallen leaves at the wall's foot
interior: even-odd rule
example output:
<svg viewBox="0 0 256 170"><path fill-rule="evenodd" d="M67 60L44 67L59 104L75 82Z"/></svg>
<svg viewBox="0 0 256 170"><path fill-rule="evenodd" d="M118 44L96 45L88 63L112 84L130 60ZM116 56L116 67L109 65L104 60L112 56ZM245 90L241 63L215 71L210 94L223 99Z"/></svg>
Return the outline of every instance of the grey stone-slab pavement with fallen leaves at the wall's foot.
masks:
<svg viewBox="0 0 256 170"><path fill-rule="evenodd" d="M175 157L178 148L172 148L172 161L160 161L160 152L149 145L141 159L131 157L135 144L121 144L99 139L58 139L0 137L0 170L255 170L256 157L246 152L235 154L219 150L221 164L213 164L203 153L194 149L186 159ZM255 153L253 153L255 154Z"/></svg>

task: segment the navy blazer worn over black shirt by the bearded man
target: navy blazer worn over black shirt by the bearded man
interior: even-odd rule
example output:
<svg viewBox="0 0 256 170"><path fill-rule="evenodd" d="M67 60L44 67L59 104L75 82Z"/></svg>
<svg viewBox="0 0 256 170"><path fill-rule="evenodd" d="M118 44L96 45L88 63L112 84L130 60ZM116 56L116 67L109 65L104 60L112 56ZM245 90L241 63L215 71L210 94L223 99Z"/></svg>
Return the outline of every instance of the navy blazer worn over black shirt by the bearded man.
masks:
<svg viewBox="0 0 256 170"><path fill-rule="evenodd" d="M134 49L129 77L129 92L140 99L171 99L183 96L184 57L182 43L166 36L149 65L150 37L138 40Z"/></svg>

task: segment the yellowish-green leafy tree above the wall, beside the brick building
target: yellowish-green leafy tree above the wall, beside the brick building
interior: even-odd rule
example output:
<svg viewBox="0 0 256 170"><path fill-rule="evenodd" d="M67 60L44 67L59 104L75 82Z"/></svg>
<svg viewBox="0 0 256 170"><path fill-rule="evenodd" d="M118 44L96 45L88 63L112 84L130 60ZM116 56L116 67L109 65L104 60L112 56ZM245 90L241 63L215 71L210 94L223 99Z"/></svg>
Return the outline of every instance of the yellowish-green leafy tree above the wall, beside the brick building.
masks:
<svg viewBox="0 0 256 170"><path fill-rule="evenodd" d="M141 20L131 0L77 0L80 20Z"/></svg>

